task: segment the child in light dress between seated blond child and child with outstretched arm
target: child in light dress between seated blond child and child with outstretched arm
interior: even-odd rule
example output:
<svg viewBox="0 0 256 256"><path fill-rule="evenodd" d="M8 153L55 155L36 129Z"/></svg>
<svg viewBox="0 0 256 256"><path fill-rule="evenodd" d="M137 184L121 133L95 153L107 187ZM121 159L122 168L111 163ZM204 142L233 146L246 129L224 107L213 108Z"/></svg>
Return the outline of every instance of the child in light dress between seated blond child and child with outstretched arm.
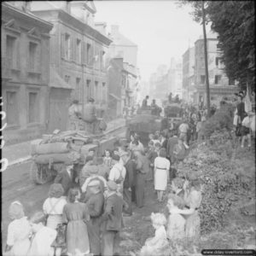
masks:
<svg viewBox="0 0 256 256"><path fill-rule="evenodd" d="M167 207L170 215L167 223L167 237L171 241L183 239L185 237L185 218L176 210L183 207L183 200L174 194L168 196Z"/></svg>

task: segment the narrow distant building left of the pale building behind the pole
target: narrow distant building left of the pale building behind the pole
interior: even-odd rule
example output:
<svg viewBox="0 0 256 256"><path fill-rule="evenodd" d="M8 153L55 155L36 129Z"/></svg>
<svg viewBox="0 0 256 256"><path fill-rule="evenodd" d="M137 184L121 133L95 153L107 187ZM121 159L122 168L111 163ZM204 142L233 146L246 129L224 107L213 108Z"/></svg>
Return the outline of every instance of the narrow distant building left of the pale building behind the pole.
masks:
<svg viewBox="0 0 256 256"><path fill-rule="evenodd" d="M194 83L195 47L190 47L183 54L183 99L193 102L195 93Z"/></svg>

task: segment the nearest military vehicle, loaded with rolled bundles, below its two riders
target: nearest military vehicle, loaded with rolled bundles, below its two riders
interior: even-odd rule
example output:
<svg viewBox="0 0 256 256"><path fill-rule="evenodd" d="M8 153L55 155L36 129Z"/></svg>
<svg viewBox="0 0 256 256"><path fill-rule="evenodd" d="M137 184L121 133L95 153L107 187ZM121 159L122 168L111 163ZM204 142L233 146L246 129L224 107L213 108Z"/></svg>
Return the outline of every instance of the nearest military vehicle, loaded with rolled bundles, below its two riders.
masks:
<svg viewBox="0 0 256 256"><path fill-rule="evenodd" d="M88 131L55 131L53 134L44 134L42 139L31 145L32 182L48 183L61 172L66 162L73 163L74 172L79 177L90 149L94 149L96 156L101 157L105 149L113 149L118 140L111 135L95 135Z"/></svg>

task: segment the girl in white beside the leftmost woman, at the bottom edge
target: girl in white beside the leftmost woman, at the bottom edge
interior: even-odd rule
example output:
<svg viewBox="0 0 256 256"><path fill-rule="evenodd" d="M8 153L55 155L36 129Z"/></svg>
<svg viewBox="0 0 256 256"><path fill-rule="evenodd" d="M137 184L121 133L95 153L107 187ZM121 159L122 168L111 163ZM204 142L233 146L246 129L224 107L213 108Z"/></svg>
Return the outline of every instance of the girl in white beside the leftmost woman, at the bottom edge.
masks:
<svg viewBox="0 0 256 256"><path fill-rule="evenodd" d="M36 212L32 215L32 218L30 218L29 221L32 227L33 236L27 256L53 255L54 249L51 247L51 244L55 241L57 231L44 226L44 212Z"/></svg>

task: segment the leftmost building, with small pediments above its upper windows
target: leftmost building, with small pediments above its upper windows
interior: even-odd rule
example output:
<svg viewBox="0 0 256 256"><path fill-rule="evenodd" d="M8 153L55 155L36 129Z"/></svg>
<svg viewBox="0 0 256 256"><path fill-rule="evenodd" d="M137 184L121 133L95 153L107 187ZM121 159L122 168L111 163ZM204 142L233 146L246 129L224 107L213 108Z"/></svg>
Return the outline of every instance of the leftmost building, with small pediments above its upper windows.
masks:
<svg viewBox="0 0 256 256"><path fill-rule="evenodd" d="M41 136L49 112L49 31L25 1L2 3L1 56L6 143Z"/></svg>

